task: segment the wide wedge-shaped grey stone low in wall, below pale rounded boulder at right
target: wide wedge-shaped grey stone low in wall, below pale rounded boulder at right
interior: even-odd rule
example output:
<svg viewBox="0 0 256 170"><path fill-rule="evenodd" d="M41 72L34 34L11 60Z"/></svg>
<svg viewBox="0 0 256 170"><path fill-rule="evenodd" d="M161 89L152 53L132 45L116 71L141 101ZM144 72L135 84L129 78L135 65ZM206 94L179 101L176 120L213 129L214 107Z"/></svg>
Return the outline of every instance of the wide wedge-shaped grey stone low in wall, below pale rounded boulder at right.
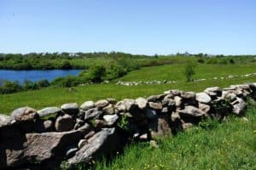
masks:
<svg viewBox="0 0 256 170"><path fill-rule="evenodd" d="M180 116L206 116L206 112L201 111L200 109L196 108L195 106L188 105L181 111L178 111Z"/></svg>

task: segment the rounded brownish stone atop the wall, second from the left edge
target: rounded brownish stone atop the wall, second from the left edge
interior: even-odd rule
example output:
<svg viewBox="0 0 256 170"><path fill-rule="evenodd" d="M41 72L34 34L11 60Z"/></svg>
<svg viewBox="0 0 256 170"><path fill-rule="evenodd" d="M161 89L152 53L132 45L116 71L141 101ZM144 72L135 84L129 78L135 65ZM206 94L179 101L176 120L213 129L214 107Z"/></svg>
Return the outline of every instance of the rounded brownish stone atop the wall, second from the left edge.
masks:
<svg viewBox="0 0 256 170"><path fill-rule="evenodd" d="M11 119L16 122L32 121L36 118L38 118L37 111L30 107L21 107L11 114Z"/></svg>

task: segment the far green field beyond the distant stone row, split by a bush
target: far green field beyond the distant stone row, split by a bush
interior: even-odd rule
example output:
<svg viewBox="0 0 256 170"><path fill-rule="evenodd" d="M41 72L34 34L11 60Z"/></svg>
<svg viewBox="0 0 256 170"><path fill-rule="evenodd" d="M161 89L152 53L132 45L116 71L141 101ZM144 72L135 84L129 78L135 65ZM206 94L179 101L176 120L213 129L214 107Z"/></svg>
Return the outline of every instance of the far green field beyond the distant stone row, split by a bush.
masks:
<svg viewBox="0 0 256 170"><path fill-rule="evenodd" d="M184 65L160 65L144 67L138 71L131 71L127 76L119 78L121 81L154 81L170 80L185 81L183 76ZM208 65L197 64L195 79L228 77L229 75L244 75L256 72L256 64L251 65Z"/></svg>

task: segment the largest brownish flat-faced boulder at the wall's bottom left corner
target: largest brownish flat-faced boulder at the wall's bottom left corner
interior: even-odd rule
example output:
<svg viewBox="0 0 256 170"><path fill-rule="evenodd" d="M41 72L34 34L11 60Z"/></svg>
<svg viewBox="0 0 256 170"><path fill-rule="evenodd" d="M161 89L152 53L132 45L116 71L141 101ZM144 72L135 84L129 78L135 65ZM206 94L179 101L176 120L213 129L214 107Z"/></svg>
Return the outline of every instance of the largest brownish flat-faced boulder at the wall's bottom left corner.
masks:
<svg viewBox="0 0 256 170"><path fill-rule="evenodd" d="M83 133L70 131L65 133L26 133L19 137L15 136L13 139L1 139L0 169L62 157L67 146L77 143L82 137ZM51 169L53 165L42 165L42 167L44 166L46 169Z"/></svg>

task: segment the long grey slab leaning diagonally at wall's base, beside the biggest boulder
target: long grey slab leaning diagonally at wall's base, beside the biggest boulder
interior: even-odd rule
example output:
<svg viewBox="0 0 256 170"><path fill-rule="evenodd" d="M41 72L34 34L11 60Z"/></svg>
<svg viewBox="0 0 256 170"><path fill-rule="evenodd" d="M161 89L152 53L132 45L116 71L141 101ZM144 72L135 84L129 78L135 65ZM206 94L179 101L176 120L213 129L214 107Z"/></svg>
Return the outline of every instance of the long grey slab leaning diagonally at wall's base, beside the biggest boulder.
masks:
<svg viewBox="0 0 256 170"><path fill-rule="evenodd" d="M73 167L73 165L81 161L88 163L97 154L107 154L116 150L118 146L119 139L117 139L115 135L115 129L102 129L102 131L88 139L88 144L84 144L84 146L76 152L75 156L67 160L68 167Z"/></svg>

